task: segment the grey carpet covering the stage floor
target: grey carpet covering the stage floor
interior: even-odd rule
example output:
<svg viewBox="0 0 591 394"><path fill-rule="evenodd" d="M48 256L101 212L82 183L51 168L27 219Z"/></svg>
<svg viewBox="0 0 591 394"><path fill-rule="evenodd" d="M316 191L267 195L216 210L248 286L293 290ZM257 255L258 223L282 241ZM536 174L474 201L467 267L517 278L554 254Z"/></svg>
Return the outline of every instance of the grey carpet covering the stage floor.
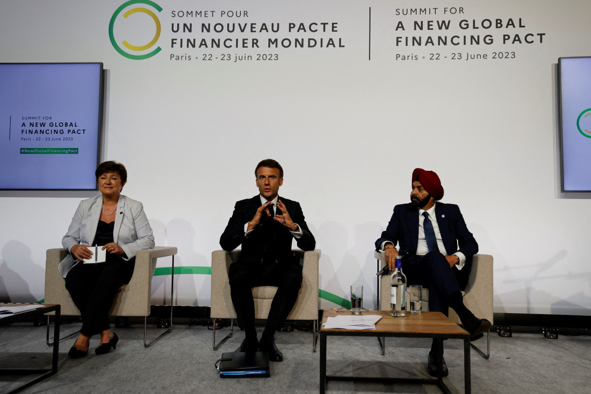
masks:
<svg viewBox="0 0 591 394"><path fill-rule="evenodd" d="M76 324L62 326L62 334ZM82 359L69 359L74 339L60 343L59 372L25 389L25 393L317 393L319 353L312 352L309 331L277 333L284 361L271 363L268 379L220 379L214 367L223 351L234 351L242 341L235 331L218 351L212 350L212 331L202 326L176 324L173 332L144 349L143 326L114 330L116 350ZM160 330L150 328L148 336ZM228 328L218 331L228 332ZM260 334L260 333L259 333ZM45 344L46 327L16 323L0 327L0 367L50 367L51 348ZM220 338L218 337L218 339ZM484 346L485 339L478 343ZM425 372L430 340L387 338L381 356L375 338L329 337L327 373L330 375L428 377ZM91 348L98 346L98 337ZM452 392L463 392L463 347L460 340L444 342L450 375L444 378ZM516 333L512 338L491 334L491 359L472 350L473 393L589 393L591 336L564 336L550 340L538 333ZM30 376L0 375L0 393ZM331 393L439 393L437 386L329 382Z"/></svg>

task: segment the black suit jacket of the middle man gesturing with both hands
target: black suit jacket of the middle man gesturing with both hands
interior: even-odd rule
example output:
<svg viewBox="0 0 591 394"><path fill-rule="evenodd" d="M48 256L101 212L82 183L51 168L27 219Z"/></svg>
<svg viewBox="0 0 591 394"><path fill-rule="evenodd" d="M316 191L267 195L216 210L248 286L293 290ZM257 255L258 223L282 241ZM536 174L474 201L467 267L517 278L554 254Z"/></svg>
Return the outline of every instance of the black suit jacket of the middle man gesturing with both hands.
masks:
<svg viewBox="0 0 591 394"><path fill-rule="evenodd" d="M316 240L310 233L310 229L308 229L300 203L284 197L279 197L279 199L285 205L291 220L297 223L303 232L300 238L296 238L298 248L314 250ZM294 236L287 227L272 217L264 215L261 223L252 230L252 233L249 233L248 237L244 236L244 225L252 220L260 206L261 198L258 195L247 200L238 201L234 206L228 226L226 226L220 237L220 246L222 246L223 250L230 252L230 250L242 245L239 263L258 263L265 256L274 258L281 265L298 263L291 253L291 241ZM281 214L279 208L277 208L277 214Z"/></svg>

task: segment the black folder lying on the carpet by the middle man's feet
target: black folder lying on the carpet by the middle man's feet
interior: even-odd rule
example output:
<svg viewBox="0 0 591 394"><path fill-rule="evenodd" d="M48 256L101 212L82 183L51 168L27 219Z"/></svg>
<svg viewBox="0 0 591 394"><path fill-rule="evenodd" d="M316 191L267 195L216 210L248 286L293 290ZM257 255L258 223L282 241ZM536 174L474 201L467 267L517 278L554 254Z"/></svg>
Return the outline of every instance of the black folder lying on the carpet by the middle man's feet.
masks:
<svg viewBox="0 0 591 394"><path fill-rule="evenodd" d="M223 353L218 360L220 377L269 377L269 356L262 351ZM217 365L217 363L216 363Z"/></svg>

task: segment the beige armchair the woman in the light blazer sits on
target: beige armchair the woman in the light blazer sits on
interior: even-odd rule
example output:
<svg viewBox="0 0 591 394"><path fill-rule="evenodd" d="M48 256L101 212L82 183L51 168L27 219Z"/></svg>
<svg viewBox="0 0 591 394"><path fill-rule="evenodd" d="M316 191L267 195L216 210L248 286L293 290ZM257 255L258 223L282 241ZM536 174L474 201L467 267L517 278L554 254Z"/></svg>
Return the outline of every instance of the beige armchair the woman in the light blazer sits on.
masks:
<svg viewBox="0 0 591 394"><path fill-rule="evenodd" d="M144 346L148 347L152 342L170 333L173 329L173 289L174 289L174 255L177 254L177 248L174 246L155 246L154 249L138 250L135 256L134 275L128 284L121 286L119 292L115 296L115 301L109 315L111 316L143 316L144 317ZM61 277L57 266L66 257L67 250L63 248L47 249L46 253L46 270L45 270L45 303L46 304L60 304L61 315L64 316L79 316L80 311L74 305L70 293L66 290L66 281ZM150 315L150 298L152 295L152 276L156 268L156 259L159 257L172 256L173 259L173 275L171 275L171 308L170 308L170 325L166 331L147 342L146 340L146 326L147 318ZM50 315L47 314L47 344L51 346L49 338ZM77 332L76 332L77 333ZM61 339L73 336L76 333L69 334ZM61 340L60 339L60 340Z"/></svg>

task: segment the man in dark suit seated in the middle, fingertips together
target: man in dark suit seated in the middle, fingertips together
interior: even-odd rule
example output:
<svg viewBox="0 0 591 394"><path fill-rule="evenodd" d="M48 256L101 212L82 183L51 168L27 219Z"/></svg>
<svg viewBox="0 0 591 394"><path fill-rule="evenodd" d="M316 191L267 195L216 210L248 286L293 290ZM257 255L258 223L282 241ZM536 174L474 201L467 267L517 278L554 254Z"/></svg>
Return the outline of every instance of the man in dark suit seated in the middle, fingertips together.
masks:
<svg viewBox="0 0 591 394"><path fill-rule="evenodd" d="M281 361L283 355L275 346L274 334L281 330L296 304L302 281L301 266L291 252L291 243L295 238L298 248L314 250L316 240L300 204L278 195L283 184L281 165L265 159L256 166L255 177L260 194L236 203L220 245L228 252L242 245L238 262L230 265L228 272L238 325L245 330L236 351L265 351L269 360ZM264 285L277 286L277 293L258 341L252 288Z"/></svg>

